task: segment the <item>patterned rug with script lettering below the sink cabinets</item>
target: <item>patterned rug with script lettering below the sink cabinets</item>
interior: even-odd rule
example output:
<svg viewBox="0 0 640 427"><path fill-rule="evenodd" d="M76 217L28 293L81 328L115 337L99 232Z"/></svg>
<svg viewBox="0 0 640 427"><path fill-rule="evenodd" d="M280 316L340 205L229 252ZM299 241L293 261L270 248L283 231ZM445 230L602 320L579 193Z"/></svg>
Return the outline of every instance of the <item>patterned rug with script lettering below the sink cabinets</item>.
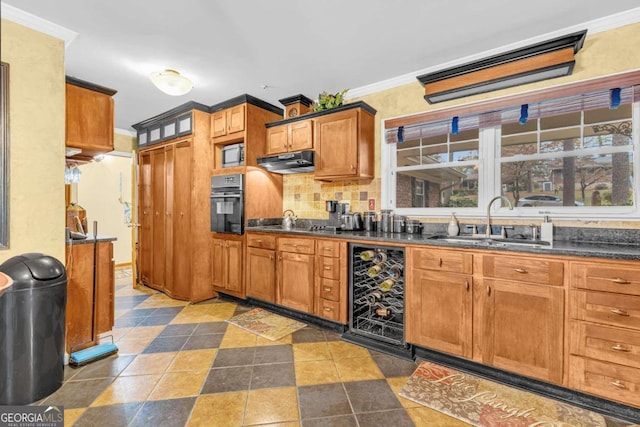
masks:
<svg viewBox="0 0 640 427"><path fill-rule="evenodd" d="M482 427L623 427L632 424L423 361L400 396Z"/></svg>

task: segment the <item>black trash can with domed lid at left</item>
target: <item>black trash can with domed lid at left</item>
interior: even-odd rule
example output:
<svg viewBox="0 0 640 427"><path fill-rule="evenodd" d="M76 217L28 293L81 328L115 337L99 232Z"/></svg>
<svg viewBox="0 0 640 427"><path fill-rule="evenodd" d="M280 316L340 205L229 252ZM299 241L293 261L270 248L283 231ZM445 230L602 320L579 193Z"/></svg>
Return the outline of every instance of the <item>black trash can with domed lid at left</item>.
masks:
<svg viewBox="0 0 640 427"><path fill-rule="evenodd" d="M13 285L0 296L0 405L38 401L62 385L67 272L40 253L0 265Z"/></svg>

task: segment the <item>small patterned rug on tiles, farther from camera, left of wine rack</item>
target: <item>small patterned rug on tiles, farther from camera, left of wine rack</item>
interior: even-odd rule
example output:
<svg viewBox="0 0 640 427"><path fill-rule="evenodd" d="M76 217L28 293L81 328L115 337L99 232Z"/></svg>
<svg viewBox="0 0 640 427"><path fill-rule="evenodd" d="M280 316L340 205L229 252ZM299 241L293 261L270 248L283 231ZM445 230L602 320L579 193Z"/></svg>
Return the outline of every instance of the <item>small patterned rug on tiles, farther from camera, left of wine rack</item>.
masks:
<svg viewBox="0 0 640 427"><path fill-rule="evenodd" d="M261 308L251 309L246 313L232 317L227 322L271 341L277 341L307 326L305 323L273 314Z"/></svg>

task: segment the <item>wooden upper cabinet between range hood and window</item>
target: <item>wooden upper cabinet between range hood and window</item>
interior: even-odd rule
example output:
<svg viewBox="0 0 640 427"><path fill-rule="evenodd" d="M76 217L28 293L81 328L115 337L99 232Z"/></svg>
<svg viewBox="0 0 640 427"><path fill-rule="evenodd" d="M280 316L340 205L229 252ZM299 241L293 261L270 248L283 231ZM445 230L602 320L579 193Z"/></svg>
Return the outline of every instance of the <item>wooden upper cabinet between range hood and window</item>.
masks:
<svg viewBox="0 0 640 427"><path fill-rule="evenodd" d="M352 108L314 118L315 179L373 178L373 117L363 108Z"/></svg>

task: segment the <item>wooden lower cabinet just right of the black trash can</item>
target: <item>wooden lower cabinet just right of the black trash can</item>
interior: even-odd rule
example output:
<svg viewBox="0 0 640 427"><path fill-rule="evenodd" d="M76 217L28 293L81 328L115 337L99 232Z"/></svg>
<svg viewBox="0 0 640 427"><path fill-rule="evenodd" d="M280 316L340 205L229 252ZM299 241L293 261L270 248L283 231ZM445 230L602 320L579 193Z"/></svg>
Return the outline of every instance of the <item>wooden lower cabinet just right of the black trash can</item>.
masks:
<svg viewBox="0 0 640 427"><path fill-rule="evenodd" d="M99 334L113 329L115 264L113 243L98 242L96 248L96 305L93 306L93 243L67 245L66 351L82 350L97 343ZM95 330L91 335L91 323Z"/></svg>

